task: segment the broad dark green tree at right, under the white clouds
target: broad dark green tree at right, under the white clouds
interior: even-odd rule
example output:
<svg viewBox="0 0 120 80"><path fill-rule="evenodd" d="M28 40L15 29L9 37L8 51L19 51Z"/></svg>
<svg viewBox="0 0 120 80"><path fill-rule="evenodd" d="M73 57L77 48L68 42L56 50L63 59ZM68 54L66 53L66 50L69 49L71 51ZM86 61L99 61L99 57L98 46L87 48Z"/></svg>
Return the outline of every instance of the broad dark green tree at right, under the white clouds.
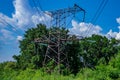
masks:
<svg viewBox="0 0 120 80"><path fill-rule="evenodd" d="M99 63L108 64L110 58L118 52L117 40L100 35L92 35L80 41L80 56L84 67L94 68Z"/></svg>

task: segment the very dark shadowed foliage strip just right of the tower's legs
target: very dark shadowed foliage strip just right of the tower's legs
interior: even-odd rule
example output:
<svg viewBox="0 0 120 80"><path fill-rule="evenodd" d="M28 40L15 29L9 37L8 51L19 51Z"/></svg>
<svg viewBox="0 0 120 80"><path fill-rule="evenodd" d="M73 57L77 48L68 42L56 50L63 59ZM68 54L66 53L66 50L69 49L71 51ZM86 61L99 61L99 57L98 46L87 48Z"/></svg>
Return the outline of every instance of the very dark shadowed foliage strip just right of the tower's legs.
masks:
<svg viewBox="0 0 120 80"><path fill-rule="evenodd" d="M76 75L80 69L79 42L74 41L72 44L68 44L66 51L68 52L70 72Z"/></svg>

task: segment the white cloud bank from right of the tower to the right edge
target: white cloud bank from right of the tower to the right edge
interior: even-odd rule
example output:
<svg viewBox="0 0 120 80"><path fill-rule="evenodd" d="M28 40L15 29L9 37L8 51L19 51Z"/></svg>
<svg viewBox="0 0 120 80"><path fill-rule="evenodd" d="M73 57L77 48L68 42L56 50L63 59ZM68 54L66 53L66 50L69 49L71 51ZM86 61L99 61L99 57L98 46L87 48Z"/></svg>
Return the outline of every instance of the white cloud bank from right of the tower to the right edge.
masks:
<svg viewBox="0 0 120 80"><path fill-rule="evenodd" d="M120 17L116 18L117 23L120 25ZM93 25L92 23L85 23L81 22L78 23L75 20L72 20L72 28L69 29L70 34L82 36L82 37L89 37L92 34L99 34L102 36L106 36L107 38L115 38L120 40L120 26L118 26L119 32L114 32L112 29L109 30L106 34L102 34L102 28L98 25Z"/></svg>

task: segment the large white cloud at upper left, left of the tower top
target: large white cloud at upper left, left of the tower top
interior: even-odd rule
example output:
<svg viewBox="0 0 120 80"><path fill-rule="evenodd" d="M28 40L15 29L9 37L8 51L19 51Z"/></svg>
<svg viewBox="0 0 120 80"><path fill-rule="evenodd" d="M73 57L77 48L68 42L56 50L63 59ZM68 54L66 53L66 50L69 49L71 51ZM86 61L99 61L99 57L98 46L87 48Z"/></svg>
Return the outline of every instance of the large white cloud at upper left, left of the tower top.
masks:
<svg viewBox="0 0 120 80"><path fill-rule="evenodd" d="M12 18L2 13L0 13L0 17L2 18L2 21L6 21L17 29L25 30L27 28L34 27L38 23L48 25L48 22L50 22L51 17L42 11L38 13L36 10L31 8L28 0L15 0L13 1L13 6L15 11L12 13Z"/></svg>

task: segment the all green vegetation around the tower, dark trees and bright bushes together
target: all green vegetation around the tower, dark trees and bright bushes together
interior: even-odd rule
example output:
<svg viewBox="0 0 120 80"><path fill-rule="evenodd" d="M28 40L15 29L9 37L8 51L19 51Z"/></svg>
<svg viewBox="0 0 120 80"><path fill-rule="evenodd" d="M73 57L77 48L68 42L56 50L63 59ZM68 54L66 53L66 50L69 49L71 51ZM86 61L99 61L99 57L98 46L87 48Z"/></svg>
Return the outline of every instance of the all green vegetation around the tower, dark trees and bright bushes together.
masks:
<svg viewBox="0 0 120 80"><path fill-rule="evenodd" d="M29 29L20 41L20 55L13 56L16 61L0 64L0 80L120 80L119 41L100 35L65 44L64 53L68 54L69 71L66 71L64 63L61 63L61 74L55 71L56 65L52 68L52 73L44 71L42 63L47 46L33 41L35 38L48 36L48 31L55 30L76 39L75 36L69 36L68 30L64 28L48 29L40 24ZM51 66L53 64L48 67Z"/></svg>

